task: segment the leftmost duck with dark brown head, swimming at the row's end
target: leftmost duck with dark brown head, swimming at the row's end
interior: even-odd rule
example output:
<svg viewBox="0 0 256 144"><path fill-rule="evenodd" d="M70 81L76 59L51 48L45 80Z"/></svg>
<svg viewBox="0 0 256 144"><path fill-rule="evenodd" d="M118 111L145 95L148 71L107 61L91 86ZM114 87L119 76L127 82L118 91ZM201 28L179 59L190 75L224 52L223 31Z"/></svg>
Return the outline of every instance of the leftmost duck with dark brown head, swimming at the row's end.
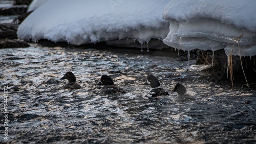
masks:
<svg viewBox="0 0 256 144"><path fill-rule="evenodd" d="M71 72L67 72L60 80L69 80L69 83L62 86L61 89L79 89L82 88L78 83L76 83L76 76Z"/></svg>

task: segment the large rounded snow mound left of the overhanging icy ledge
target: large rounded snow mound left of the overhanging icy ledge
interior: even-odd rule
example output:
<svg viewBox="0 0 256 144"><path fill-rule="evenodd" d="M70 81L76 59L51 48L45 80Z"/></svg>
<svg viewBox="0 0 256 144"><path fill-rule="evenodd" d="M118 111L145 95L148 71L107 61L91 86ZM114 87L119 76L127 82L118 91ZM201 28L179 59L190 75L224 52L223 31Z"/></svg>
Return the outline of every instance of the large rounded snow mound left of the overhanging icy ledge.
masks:
<svg viewBox="0 0 256 144"><path fill-rule="evenodd" d="M37 0L40 1L40 0ZM163 39L169 22L162 18L169 0L51 0L18 27L20 39L86 44L132 38L140 43Z"/></svg>

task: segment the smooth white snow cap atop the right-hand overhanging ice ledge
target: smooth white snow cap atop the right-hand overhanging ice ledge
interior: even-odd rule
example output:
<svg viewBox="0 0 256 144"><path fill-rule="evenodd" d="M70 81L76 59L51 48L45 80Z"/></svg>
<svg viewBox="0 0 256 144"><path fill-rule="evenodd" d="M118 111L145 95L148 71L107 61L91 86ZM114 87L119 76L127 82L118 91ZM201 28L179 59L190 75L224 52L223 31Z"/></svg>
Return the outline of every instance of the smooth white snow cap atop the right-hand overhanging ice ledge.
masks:
<svg viewBox="0 0 256 144"><path fill-rule="evenodd" d="M254 0L170 1L163 10L163 18L177 21L215 19L227 26L256 32L255 7Z"/></svg>

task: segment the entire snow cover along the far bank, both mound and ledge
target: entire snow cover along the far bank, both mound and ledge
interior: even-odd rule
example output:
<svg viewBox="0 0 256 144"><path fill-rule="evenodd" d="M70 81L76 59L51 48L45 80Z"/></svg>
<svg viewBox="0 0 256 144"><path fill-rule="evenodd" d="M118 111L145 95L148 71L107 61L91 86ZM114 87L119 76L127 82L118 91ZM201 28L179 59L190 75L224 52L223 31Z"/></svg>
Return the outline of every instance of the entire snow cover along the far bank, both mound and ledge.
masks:
<svg viewBox="0 0 256 144"><path fill-rule="evenodd" d="M106 41L127 47L145 47L145 42L165 46L154 38L184 51L224 49L226 55L232 50L233 55L254 56L255 7L254 0L34 0L29 10L35 11L17 35L76 45Z"/></svg>

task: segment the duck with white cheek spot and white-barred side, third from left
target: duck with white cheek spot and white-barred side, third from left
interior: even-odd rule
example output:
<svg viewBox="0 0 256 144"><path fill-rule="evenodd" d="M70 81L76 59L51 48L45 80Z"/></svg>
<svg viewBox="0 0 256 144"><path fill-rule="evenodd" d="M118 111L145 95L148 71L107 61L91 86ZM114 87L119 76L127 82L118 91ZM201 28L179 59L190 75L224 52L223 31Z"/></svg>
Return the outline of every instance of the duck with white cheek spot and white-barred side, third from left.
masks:
<svg viewBox="0 0 256 144"><path fill-rule="evenodd" d="M169 93L165 89L160 87L159 80L153 75L148 75L146 82L143 85L151 86L150 92L146 94L146 95L150 95L151 97L169 95Z"/></svg>

